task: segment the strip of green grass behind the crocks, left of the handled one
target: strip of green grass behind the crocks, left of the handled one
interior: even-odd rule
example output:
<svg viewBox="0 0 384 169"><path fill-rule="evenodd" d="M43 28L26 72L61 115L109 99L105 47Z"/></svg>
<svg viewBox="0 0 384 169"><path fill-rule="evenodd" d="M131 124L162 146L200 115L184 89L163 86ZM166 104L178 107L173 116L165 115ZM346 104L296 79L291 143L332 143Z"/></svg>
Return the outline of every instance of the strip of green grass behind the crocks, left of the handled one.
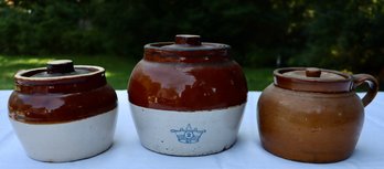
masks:
<svg viewBox="0 0 384 169"><path fill-rule="evenodd" d="M116 89L126 89L129 75L138 62L127 56L6 56L0 55L0 89L13 88L13 75L20 70L45 66L51 60L73 60L74 64L98 65L106 68L108 83ZM262 91L273 82L273 68L245 67L249 91Z"/></svg>

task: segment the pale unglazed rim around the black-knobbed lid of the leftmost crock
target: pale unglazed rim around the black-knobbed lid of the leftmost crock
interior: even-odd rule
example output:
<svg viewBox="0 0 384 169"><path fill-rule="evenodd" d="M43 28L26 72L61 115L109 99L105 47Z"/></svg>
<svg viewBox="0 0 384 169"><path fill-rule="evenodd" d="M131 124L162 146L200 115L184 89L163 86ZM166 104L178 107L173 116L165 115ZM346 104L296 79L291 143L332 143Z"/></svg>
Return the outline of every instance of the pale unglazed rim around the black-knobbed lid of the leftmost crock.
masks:
<svg viewBox="0 0 384 169"><path fill-rule="evenodd" d="M24 81L60 81L60 80L67 80L67 78L76 78L76 77L85 77L85 76L92 76L95 74L99 74L105 72L104 67L100 66L93 66L93 65L75 65L75 68L94 68L96 71L85 73L85 74L74 74L74 75L63 75L63 76L53 76L53 77L31 77L31 76L23 76L23 74L31 73L31 72L44 72L46 71L46 67L38 67L38 68L31 68L31 70L23 70L19 71L15 75L15 80L24 80Z"/></svg>

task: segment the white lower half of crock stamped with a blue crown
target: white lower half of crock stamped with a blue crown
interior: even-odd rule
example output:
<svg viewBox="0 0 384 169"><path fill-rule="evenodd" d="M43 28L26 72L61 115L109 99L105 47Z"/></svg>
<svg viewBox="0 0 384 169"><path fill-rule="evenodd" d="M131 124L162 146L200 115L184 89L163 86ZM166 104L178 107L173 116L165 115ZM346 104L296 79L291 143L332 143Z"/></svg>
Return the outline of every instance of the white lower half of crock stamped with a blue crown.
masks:
<svg viewBox="0 0 384 169"><path fill-rule="evenodd" d="M244 106L175 112L130 104L142 146L174 156L211 155L231 148L237 138Z"/></svg>

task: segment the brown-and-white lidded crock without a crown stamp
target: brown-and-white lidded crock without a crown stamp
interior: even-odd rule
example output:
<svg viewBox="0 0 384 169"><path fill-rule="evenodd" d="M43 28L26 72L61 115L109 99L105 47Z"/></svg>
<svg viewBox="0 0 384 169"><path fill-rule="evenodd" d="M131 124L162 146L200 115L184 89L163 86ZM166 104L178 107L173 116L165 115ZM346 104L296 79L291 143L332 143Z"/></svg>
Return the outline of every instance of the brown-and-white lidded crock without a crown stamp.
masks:
<svg viewBox="0 0 384 169"><path fill-rule="evenodd" d="M14 81L9 117L29 157L73 161L111 146L117 97L103 67L58 60L20 71Z"/></svg>

